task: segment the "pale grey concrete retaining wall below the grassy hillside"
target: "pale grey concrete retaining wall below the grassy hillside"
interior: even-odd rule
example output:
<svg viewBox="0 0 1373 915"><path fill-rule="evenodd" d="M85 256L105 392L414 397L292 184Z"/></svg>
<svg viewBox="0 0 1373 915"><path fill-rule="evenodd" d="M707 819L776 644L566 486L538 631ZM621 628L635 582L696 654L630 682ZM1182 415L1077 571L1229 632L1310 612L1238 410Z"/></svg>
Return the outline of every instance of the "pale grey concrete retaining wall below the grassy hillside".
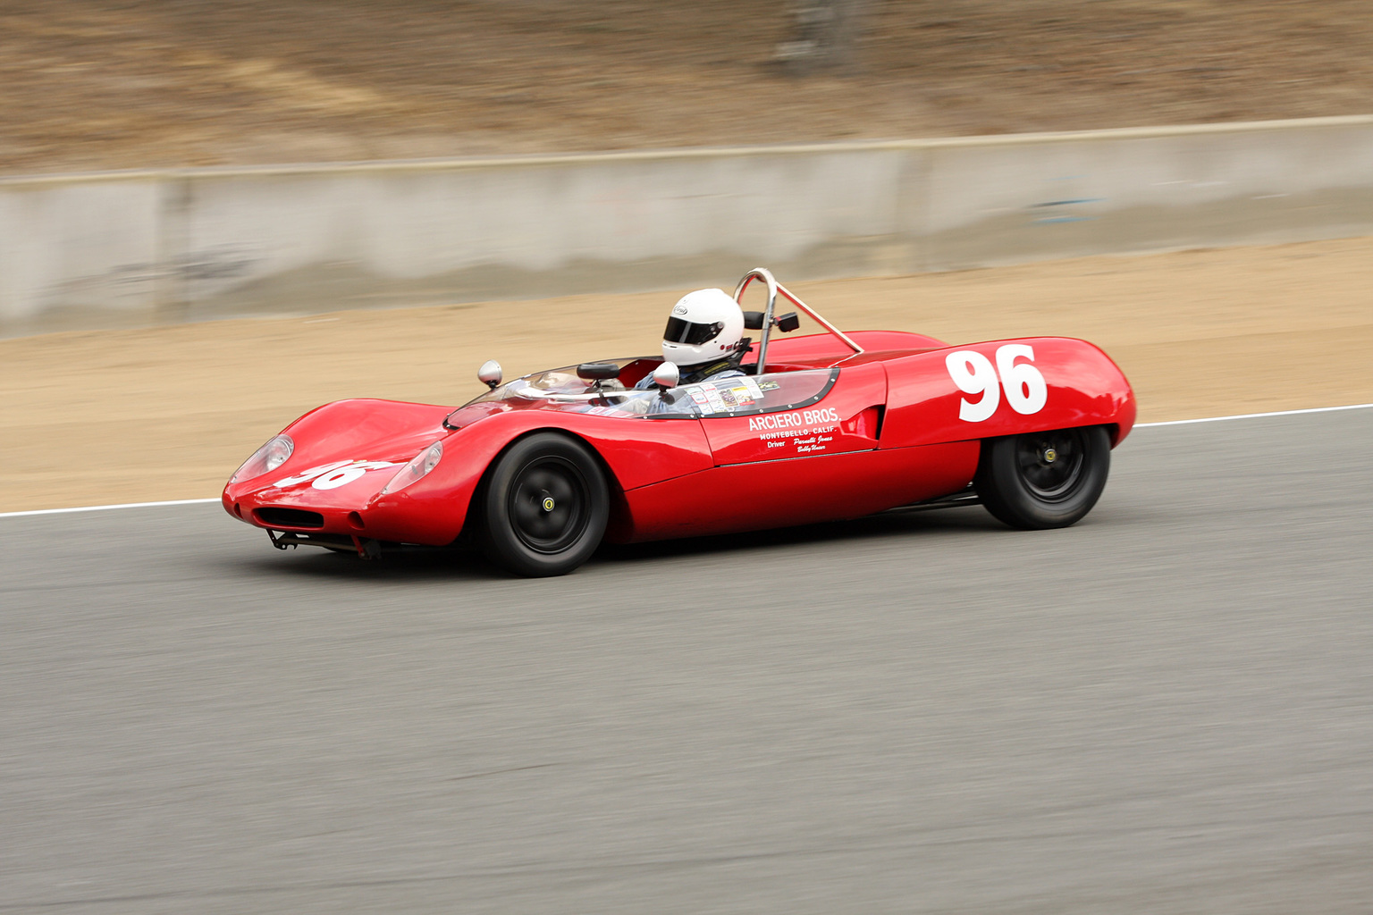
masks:
<svg viewBox="0 0 1373 915"><path fill-rule="evenodd" d="M0 180L0 332L1373 233L1373 117Z"/></svg>

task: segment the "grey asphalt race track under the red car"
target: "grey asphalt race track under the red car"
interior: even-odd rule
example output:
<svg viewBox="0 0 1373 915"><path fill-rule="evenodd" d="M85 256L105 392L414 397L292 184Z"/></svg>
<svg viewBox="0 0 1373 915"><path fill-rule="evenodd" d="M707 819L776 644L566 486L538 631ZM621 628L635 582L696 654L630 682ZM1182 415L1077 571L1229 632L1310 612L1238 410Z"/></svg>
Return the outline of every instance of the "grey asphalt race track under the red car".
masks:
<svg viewBox="0 0 1373 915"><path fill-rule="evenodd" d="M1373 410L1144 428L1067 531L534 582L0 519L0 911L1366 911L1370 454Z"/></svg>

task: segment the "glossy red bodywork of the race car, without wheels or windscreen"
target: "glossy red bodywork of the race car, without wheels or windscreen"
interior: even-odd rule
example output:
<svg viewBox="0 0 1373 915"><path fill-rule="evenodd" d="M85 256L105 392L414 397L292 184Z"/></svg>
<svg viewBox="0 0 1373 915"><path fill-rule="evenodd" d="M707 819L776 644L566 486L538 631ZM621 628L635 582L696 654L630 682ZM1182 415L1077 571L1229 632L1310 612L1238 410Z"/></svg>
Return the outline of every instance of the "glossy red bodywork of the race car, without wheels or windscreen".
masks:
<svg viewBox="0 0 1373 915"><path fill-rule="evenodd" d="M831 335L773 340L769 376L833 365L839 373L814 403L755 416L600 416L522 398L479 401L452 414L452 407L394 401L330 403L287 427L295 451L283 465L231 482L224 508L270 530L443 545L461 532L472 494L500 453L526 433L556 429L585 440L605 465L610 539L724 534L858 517L957 492L972 480L984 438L1103 424L1119 442L1134 423L1124 376L1082 340L947 347L916 333L850 336L866 351L854 355ZM1020 347L1032 358L1008 357ZM633 383L630 376L654 362L626 366L625 380ZM1027 373L1016 366L1027 364L1042 377L1043 402L1023 413L1016 405L1028 410L1032 391L1013 385ZM1000 405L986 417L960 418L978 413L987 395L969 394L967 379L960 390L958 366L982 366L983 387L1000 381L989 372L1011 376L1000 381ZM445 428L445 417L456 431ZM434 471L382 495L435 440L443 457ZM308 473L325 465L339 466ZM323 525L268 523L255 514L262 509L313 512Z"/></svg>

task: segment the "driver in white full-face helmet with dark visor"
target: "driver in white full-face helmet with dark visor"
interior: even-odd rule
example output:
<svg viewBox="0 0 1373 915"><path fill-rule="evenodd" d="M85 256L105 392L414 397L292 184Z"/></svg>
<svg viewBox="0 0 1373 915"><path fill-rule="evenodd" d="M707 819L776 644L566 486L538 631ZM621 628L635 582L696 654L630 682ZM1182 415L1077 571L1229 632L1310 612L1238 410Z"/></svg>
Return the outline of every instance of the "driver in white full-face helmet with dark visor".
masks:
<svg viewBox="0 0 1373 915"><path fill-rule="evenodd" d="M740 359L751 348L744 336L744 313L724 289L696 289L673 306L663 331L663 362L681 372L680 384L743 377ZM634 385L649 388L648 373Z"/></svg>

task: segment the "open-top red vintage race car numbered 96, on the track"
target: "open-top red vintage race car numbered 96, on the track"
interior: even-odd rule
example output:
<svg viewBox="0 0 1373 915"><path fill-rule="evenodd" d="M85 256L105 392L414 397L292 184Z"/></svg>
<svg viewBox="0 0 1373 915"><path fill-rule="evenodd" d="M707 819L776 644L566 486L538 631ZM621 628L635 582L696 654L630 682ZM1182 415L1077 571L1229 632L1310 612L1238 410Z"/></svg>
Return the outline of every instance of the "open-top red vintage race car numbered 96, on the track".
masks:
<svg viewBox="0 0 1373 915"><path fill-rule="evenodd" d="M224 508L280 549L371 558L463 535L511 572L562 575L603 539L972 503L1012 527L1053 528L1101 495L1135 401L1097 347L843 333L763 269L744 276L735 302L754 280L768 306L743 313L744 325L762 333L757 348L740 342L733 372L678 384L677 365L644 357L501 384L487 362L490 390L457 409L328 403L250 457ZM798 316L774 314L778 296L825 332L780 336Z"/></svg>

